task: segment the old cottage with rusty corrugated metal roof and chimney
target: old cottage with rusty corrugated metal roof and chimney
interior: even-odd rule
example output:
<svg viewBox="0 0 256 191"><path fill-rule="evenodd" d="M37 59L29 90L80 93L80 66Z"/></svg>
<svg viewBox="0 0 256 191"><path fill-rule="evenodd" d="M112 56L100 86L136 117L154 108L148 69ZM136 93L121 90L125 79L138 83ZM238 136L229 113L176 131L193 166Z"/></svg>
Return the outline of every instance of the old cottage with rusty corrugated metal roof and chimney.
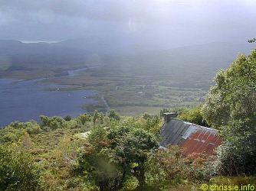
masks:
<svg viewBox="0 0 256 191"><path fill-rule="evenodd" d="M214 154L215 148L222 144L217 130L182 121L176 118L175 113L164 114L164 125L160 134L161 147L166 148L169 144L179 145L185 156L192 153L210 156Z"/></svg>

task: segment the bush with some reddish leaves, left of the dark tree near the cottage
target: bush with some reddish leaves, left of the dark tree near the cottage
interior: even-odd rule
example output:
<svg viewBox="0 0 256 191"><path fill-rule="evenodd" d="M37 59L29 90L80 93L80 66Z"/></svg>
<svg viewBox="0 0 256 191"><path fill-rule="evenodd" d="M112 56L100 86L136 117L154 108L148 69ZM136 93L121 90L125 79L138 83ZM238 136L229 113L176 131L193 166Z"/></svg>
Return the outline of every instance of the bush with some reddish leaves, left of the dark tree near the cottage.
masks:
<svg viewBox="0 0 256 191"><path fill-rule="evenodd" d="M120 167L110 159L110 153L106 152L110 141L107 139L107 131L102 126L96 126L87 137L87 147L79 151L77 165L74 173L84 176L92 185L96 184L100 190L117 190L123 186L124 177Z"/></svg>

